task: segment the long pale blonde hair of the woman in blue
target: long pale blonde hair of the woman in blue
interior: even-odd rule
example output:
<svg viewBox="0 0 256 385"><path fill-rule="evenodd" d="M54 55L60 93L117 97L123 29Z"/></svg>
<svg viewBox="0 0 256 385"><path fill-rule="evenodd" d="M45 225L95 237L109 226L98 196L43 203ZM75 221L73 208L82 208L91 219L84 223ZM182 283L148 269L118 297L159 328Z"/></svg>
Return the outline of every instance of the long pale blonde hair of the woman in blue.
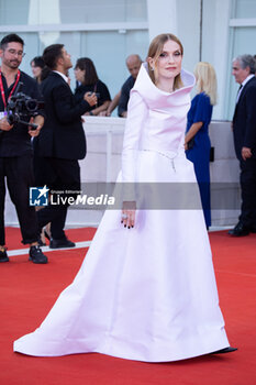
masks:
<svg viewBox="0 0 256 385"><path fill-rule="evenodd" d="M216 75L213 66L207 62L199 62L194 67L198 94L204 92L209 96L211 105L216 103Z"/></svg>

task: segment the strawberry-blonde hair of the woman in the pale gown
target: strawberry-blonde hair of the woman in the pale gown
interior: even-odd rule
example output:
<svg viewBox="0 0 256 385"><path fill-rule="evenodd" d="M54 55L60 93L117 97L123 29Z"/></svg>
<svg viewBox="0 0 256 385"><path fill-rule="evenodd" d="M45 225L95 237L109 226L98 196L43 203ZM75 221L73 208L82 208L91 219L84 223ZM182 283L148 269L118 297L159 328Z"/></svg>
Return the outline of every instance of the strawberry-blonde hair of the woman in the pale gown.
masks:
<svg viewBox="0 0 256 385"><path fill-rule="evenodd" d="M160 35L157 35L151 43L149 48L148 48L148 53L147 53L147 66L148 66L148 74L149 77L152 79L152 81L154 84L156 84L156 78L155 78L155 74L154 70L151 70L149 64L148 64L148 58L152 57L155 59L155 62L158 61L160 54L163 53L164 50L164 45L167 41L172 41L176 42L179 47L180 47L180 52L181 52L181 56L183 56L183 46L181 44L181 42L179 41L179 38L175 35L172 35L171 33L163 33ZM181 88L183 86L182 80L181 80L181 76L180 74L178 74L175 77L175 81L174 81L174 90Z"/></svg>

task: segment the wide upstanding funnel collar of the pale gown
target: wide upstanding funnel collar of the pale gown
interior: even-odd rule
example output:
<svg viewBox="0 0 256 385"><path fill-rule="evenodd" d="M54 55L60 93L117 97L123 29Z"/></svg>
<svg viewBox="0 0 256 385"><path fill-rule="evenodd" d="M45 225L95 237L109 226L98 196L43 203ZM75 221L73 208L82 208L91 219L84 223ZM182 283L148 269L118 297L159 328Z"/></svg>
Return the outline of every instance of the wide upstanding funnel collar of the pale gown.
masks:
<svg viewBox="0 0 256 385"><path fill-rule="evenodd" d="M170 108L188 102L188 95L194 86L194 76L181 69L183 87L174 92L157 88L148 75L147 63L143 63L132 91L137 91L149 108Z"/></svg>

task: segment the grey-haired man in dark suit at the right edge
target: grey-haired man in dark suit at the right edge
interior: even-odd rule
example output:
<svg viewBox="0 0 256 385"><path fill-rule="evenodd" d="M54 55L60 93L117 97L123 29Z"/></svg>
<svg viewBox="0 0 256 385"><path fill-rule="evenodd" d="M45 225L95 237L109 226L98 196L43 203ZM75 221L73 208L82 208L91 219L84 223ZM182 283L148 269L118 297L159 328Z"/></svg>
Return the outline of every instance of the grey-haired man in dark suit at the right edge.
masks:
<svg viewBox="0 0 256 385"><path fill-rule="evenodd" d="M241 85L233 117L236 156L241 167L242 207L232 237L256 232L256 77L255 59L242 55L233 61L235 81Z"/></svg>

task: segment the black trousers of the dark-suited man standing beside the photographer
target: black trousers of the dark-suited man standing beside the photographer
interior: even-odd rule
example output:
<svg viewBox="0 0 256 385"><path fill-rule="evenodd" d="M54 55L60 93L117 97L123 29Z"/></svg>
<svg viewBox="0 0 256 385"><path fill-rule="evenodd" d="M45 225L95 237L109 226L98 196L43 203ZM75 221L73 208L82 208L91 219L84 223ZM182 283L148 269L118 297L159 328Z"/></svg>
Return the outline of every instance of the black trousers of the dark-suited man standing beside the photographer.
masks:
<svg viewBox="0 0 256 385"><path fill-rule="evenodd" d="M43 186L46 185L51 190L55 191L79 191L80 190L80 167L76 160L62 160L54 157L43 157L37 160L46 169L51 169L51 175L38 177ZM44 168L41 168L44 169ZM38 175L38 173L36 172ZM44 180L44 182L43 182ZM63 194L62 196L65 196ZM68 194L68 196L77 197L77 194ZM67 217L68 205L49 205L36 211L40 232L41 229L51 222L52 238L56 240L65 239L65 222Z"/></svg>

